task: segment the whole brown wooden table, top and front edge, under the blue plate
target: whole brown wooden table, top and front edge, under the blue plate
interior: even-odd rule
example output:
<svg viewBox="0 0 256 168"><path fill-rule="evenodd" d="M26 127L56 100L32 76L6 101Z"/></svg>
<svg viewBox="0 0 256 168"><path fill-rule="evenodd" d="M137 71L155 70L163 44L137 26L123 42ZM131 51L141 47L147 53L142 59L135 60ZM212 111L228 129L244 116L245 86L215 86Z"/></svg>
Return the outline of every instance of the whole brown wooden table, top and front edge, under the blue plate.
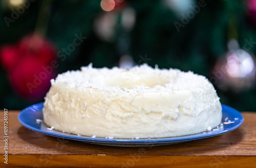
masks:
<svg viewBox="0 0 256 168"><path fill-rule="evenodd" d="M108 147L31 131L8 112L8 164L1 140L0 167L256 167L256 113L232 132L159 147ZM4 112L0 112L4 139Z"/></svg>

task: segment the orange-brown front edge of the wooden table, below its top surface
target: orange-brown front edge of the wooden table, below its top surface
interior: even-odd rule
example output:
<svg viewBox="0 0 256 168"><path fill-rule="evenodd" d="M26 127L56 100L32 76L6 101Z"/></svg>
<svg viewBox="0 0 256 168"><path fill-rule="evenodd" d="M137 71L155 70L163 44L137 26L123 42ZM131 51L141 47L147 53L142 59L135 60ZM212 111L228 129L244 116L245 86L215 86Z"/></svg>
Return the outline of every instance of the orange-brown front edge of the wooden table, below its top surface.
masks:
<svg viewBox="0 0 256 168"><path fill-rule="evenodd" d="M11 167L255 167L256 156L9 155ZM7 166L0 164L0 166Z"/></svg>

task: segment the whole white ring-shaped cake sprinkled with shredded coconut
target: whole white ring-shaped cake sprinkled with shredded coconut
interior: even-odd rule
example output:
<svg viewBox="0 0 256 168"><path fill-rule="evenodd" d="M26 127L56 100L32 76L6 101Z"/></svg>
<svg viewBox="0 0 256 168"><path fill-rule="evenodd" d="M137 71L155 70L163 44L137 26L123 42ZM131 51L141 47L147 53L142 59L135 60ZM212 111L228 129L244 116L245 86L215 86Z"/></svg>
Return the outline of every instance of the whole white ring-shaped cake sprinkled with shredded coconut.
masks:
<svg viewBox="0 0 256 168"><path fill-rule="evenodd" d="M191 71L90 64L51 80L43 115L49 127L78 135L162 138L217 127L219 100L214 86Z"/></svg>

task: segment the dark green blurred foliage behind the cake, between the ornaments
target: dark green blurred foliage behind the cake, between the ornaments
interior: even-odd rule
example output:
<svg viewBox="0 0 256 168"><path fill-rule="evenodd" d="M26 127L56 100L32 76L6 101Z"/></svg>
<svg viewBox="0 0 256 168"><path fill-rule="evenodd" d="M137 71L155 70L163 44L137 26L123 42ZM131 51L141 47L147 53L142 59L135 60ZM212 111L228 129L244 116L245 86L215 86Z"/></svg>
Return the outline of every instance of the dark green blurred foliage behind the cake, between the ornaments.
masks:
<svg viewBox="0 0 256 168"><path fill-rule="evenodd" d="M237 37L241 46L244 45L245 39L253 38L256 41L256 30L246 20L244 1L206 0L205 3L206 6L178 33L174 22L180 22L180 18L166 7L163 1L126 1L126 6L136 11L135 27L128 34L130 54L134 62L138 63L140 56L147 55L151 58L148 61L151 66L158 64L161 68L191 70L209 79L217 59L227 51L231 17L236 18ZM115 27L115 40L106 42L99 39L94 31L94 20L104 13L100 8L100 1L35 1L15 22L10 23L8 28L4 17L10 17L11 12L2 3L0 46L17 42L39 25L39 29L47 30L47 37L59 50L73 41L74 34L82 33L87 37L65 61L59 61L58 73L79 69L90 62L93 62L95 67L118 65L120 53L117 51L117 39L123 34L120 19ZM41 17L38 17L39 13ZM256 46L253 46L250 52L255 54L255 50ZM2 67L0 78L0 108L23 109L36 103L17 97ZM241 111L256 111L255 89L240 93L216 89L223 104Z"/></svg>

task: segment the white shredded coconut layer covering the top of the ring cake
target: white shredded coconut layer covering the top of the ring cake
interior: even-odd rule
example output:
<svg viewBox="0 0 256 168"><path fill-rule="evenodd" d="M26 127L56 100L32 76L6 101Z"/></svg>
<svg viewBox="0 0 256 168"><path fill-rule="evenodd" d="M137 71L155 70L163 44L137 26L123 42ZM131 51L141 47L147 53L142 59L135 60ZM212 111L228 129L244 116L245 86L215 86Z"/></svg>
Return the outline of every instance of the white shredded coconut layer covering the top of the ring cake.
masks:
<svg viewBox="0 0 256 168"><path fill-rule="evenodd" d="M80 71L80 73L78 73ZM126 82L127 79L129 82ZM189 80L189 82L187 82ZM145 81L147 81L145 83ZM149 81L149 82L148 82ZM110 92L129 93L135 97L138 93L144 92L175 92L184 89L202 88L208 90L212 85L204 77L194 74L191 71L183 72L179 69L159 69L158 66L152 68L147 64L134 66L130 69L118 67L93 68L92 64L81 67L81 70L71 70L59 74L57 78L51 80L51 84L65 84L78 90L105 90ZM116 85L116 84L119 85ZM131 101L133 98L129 101ZM84 102L84 109L86 103Z"/></svg>

